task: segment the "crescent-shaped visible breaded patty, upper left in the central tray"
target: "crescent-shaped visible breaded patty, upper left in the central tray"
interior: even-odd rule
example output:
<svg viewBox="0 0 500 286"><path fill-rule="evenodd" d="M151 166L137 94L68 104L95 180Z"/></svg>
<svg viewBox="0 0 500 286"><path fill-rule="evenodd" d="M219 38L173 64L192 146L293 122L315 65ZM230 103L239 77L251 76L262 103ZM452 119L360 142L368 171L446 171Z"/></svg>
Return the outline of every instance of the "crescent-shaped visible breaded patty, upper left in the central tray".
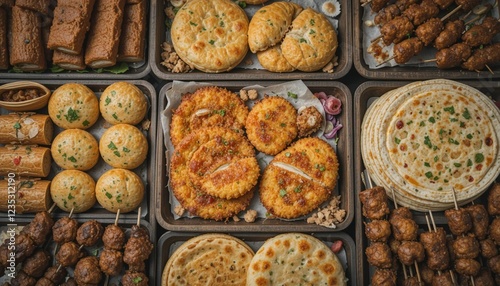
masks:
<svg viewBox="0 0 500 286"><path fill-rule="evenodd" d="M242 130L248 108L240 97L225 88L202 87L182 97L170 123L174 147L190 132L213 126Z"/></svg>

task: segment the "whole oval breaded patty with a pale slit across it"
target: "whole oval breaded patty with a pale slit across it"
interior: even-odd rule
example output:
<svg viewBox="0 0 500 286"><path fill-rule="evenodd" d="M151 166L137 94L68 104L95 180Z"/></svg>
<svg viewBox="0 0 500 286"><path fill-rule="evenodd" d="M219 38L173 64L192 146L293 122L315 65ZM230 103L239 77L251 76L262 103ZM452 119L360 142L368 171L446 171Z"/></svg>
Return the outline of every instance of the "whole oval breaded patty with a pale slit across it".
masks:
<svg viewBox="0 0 500 286"><path fill-rule="evenodd" d="M297 218L330 196L338 177L333 148L319 138L304 138L276 155L264 170L260 200L273 215Z"/></svg>

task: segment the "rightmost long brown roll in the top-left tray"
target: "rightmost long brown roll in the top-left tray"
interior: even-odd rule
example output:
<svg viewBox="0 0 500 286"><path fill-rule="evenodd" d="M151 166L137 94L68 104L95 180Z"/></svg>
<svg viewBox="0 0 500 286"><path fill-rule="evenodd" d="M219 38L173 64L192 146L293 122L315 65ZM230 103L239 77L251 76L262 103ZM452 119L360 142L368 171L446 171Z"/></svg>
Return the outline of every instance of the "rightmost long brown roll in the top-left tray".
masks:
<svg viewBox="0 0 500 286"><path fill-rule="evenodd" d="M146 1L125 5L118 61L140 62L144 60L146 37Z"/></svg>

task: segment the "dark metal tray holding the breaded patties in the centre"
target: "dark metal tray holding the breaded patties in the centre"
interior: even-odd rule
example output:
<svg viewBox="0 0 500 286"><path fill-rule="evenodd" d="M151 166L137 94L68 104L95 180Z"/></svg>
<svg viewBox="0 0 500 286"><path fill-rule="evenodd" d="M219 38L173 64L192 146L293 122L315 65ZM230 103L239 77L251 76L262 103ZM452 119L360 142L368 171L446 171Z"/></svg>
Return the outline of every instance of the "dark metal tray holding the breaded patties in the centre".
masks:
<svg viewBox="0 0 500 286"><path fill-rule="evenodd" d="M238 92L242 87L255 85L252 82L212 82L216 86L225 87L231 91ZM277 84L278 82L266 82L265 86ZM219 231L231 232L284 232L284 231L307 231L307 232L335 232L345 229L353 219L354 204L352 194L352 96L349 89L340 82L304 82L312 92L324 91L328 94L330 90L340 91L340 100L343 104L343 111L340 114L340 121L344 125L340 131L337 146L337 156L339 159L340 172L337 186L341 197L340 208L346 210L345 220L337 225L336 229L329 229L316 224L308 224L305 219L298 221L283 221L275 219L258 218L254 223L246 223L244 220L235 222L216 222L213 220L204 220L202 218L180 218L175 219L172 215L172 206L169 203L169 190L167 188L165 144L163 143L163 131L157 128L157 180L156 180L156 220L163 228L174 231L212 231L216 228ZM166 91L171 88L171 84L163 86L159 93L159 114L165 109ZM160 122L160 121L158 121ZM160 123L161 124L161 123Z"/></svg>

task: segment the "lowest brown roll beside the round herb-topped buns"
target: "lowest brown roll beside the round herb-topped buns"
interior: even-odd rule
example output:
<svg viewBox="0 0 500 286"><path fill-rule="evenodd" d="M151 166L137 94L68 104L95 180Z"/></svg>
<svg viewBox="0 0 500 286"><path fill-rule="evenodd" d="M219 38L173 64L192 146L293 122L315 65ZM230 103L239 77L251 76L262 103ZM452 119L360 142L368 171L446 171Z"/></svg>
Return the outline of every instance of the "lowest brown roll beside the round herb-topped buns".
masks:
<svg viewBox="0 0 500 286"><path fill-rule="evenodd" d="M35 213L47 211L52 205L50 181L12 178L0 181L0 212L7 212L9 200L15 195L16 213Z"/></svg>

